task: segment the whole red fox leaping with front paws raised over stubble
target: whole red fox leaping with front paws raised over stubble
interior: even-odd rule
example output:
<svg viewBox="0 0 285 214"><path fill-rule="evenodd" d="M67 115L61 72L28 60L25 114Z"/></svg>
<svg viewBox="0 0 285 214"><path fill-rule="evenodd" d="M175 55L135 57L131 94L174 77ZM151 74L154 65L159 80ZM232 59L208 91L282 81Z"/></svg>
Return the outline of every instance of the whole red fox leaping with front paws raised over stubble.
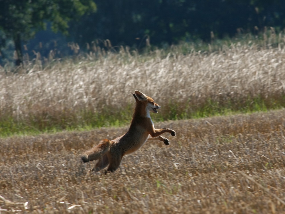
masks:
<svg viewBox="0 0 285 214"><path fill-rule="evenodd" d="M137 151L147 140L160 140L169 145L169 140L160 135L164 132L176 135L170 128L154 128L150 112L157 113L160 106L152 98L137 90L132 94L136 100L136 107L128 132L114 140L102 140L81 157L83 162L99 159L92 171L100 171L109 164L107 171L113 172L119 167L124 155Z"/></svg>

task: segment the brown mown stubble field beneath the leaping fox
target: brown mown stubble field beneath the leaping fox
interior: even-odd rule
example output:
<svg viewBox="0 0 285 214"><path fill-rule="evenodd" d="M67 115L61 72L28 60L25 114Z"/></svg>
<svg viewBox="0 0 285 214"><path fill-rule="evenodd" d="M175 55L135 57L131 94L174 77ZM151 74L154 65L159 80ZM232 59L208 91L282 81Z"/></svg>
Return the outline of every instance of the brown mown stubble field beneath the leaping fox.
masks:
<svg viewBox="0 0 285 214"><path fill-rule="evenodd" d="M0 213L281 213L285 110L155 124L114 173L86 174L80 155L124 128L0 139ZM94 163L91 162L91 167Z"/></svg>

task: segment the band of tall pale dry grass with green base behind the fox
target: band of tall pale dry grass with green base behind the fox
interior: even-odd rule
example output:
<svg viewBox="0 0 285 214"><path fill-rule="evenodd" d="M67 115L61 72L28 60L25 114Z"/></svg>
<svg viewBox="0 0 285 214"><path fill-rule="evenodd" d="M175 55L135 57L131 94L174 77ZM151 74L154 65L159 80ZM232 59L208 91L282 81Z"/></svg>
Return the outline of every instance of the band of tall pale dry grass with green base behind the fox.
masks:
<svg viewBox="0 0 285 214"><path fill-rule="evenodd" d="M129 90L154 98L162 106L154 119L161 121L280 108L285 37L271 34L264 41L187 54L186 44L141 55L124 47L118 53L97 49L45 66L36 60L15 73L1 67L0 132L124 125L134 105Z"/></svg>

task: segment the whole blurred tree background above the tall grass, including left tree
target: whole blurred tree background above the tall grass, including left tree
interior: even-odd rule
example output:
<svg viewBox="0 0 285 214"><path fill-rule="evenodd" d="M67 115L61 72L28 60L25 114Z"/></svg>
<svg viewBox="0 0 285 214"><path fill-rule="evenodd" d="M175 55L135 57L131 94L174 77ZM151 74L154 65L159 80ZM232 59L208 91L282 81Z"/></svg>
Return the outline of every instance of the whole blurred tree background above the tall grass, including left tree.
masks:
<svg viewBox="0 0 285 214"><path fill-rule="evenodd" d="M0 5L0 63L13 56L10 39L16 65L22 50L46 57L61 50L54 53L62 57L106 39L113 47L140 49L146 39L161 47L285 27L284 0L0 0Z"/></svg>

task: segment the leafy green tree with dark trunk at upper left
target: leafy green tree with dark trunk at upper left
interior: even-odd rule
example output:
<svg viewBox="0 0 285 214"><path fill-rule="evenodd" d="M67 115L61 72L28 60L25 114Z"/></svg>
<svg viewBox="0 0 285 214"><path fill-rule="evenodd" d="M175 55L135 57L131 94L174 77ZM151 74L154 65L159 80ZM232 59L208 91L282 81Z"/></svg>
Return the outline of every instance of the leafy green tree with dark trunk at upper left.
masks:
<svg viewBox="0 0 285 214"><path fill-rule="evenodd" d="M0 0L0 4L0 30L15 43L17 65L22 62L21 40L46 29L47 21L54 32L67 35L71 20L96 10L92 0Z"/></svg>

